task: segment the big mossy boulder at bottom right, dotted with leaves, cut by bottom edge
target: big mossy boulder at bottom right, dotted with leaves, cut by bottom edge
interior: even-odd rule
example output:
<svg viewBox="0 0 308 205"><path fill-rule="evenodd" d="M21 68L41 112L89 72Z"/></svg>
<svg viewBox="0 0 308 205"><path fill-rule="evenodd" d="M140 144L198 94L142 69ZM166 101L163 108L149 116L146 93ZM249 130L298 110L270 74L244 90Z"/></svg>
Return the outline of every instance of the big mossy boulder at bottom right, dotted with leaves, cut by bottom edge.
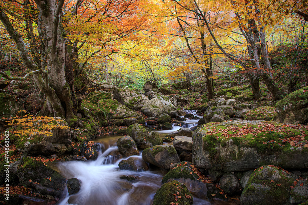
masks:
<svg viewBox="0 0 308 205"><path fill-rule="evenodd" d="M262 166L250 175L241 204L290 204L290 186L296 178L274 165Z"/></svg>

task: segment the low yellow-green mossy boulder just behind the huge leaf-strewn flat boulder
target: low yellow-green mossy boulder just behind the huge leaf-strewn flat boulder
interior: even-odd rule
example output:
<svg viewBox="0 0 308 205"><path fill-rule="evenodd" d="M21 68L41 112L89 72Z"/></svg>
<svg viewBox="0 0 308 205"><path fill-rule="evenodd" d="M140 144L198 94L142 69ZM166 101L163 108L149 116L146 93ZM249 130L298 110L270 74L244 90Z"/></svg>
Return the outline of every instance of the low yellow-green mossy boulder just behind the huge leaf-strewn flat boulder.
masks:
<svg viewBox="0 0 308 205"><path fill-rule="evenodd" d="M270 121L273 119L275 113L276 113L275 107L270 107L270 106L258 107L256 109L253 109L245 113L244 119Z"/></svg>

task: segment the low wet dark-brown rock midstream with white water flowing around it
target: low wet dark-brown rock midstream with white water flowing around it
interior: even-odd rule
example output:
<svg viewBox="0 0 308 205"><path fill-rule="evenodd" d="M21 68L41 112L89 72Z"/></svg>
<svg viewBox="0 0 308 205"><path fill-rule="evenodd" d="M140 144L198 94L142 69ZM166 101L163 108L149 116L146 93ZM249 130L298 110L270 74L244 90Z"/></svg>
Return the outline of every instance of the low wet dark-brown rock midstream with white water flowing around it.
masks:
<svg viewBox="0 0 308 205"><path fill-rule="evenodd" d="M149 166L139 157L130 157L127 160L122 160L119 163L120 169L130 170L130 171L148 171Z"/></svg>

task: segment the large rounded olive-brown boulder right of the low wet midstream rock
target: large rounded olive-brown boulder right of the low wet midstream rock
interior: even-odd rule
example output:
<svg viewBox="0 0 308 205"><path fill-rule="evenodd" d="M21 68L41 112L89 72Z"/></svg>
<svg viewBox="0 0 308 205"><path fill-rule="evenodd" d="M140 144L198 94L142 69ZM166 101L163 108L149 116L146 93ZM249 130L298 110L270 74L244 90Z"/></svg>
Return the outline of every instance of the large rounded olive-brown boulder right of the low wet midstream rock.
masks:
<svg viewBox="0 0 308 205"><path fill-rule="evenodd" d="M142 159L164 169L169 169L170 164L180 163L180 158L175 148L169 144L146 148L142 152Z"/></svg>

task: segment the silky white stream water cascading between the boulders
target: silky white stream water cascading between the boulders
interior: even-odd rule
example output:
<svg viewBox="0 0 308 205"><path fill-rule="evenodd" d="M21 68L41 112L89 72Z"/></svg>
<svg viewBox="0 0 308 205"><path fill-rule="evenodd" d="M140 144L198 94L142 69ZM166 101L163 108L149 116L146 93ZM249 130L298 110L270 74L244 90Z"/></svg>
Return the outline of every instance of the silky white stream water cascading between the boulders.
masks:
<svg viewBox="0 0 308 205"><path fill-rule="evenodd" d="M186 111L196 115L196 111ZM183 127L191 128L197 125L198 120L185 121ZM170 133L180 129L180 126L172 125L172 130L156 131L160 134ZM117 150L116 141L121 136L109 136L96 140L102 147L102 152L95 161L70 161L59 164L60 172L67 178L77 178L81 181L81 189L75 194L66 195L59 204L84 204L84 205L151 205L154 195L162 185L161 179L166 171L150 166L149 171L136 172L120 170L119 162L128 159L114 159L108 156ZM136 156L134 156L136 157ZM140 155L137 156L141 158ZM139 179L127 181L120 179L122 175L134 175ZM211 204L208 201L194 197L194 204Z"/></svg>

